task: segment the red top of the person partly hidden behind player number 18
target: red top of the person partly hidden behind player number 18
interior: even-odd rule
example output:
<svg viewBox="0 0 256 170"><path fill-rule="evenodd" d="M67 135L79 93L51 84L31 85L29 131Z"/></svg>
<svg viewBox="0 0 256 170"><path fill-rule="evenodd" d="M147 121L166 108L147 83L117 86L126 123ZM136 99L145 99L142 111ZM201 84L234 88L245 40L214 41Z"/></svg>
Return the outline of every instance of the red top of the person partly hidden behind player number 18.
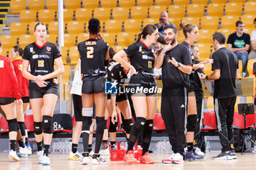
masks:
<svg viewBox="0 0 256 170"><path fill-rule="evenodd" d="M22 75L22 61L21 57L15 58L12 65L19 83L21 97L29 97L29 80Z"/></svg>

